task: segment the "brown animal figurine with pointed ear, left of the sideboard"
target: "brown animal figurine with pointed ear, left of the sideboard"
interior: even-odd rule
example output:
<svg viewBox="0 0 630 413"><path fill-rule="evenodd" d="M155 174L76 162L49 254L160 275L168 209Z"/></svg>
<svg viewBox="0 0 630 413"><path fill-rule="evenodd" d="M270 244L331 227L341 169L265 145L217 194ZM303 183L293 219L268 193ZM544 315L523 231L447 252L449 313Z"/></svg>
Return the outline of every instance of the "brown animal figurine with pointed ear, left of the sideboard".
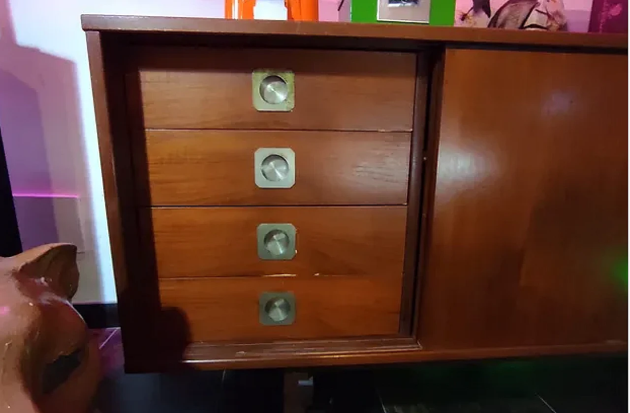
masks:
<svg viewBox="0 0 630 413"><path fill-rule="evenodd" d="M72 245L0 257L0 412L88 409L100 369L98 349L68 302L78 281Z"/></svg>

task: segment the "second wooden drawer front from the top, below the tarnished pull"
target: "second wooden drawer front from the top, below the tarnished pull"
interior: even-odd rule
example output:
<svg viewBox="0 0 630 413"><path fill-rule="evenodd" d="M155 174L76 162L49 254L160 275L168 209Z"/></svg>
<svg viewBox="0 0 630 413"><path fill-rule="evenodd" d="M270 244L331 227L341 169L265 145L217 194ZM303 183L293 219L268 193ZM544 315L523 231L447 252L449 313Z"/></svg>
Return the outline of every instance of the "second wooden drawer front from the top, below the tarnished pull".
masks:
<svg viewBox="0 0 630 413"><path fill-rule="evenodd" d="M258 186L260 148L294 152L290 188ZM150 130L146 157L151 205L401 205L410 133Z"/></svg>

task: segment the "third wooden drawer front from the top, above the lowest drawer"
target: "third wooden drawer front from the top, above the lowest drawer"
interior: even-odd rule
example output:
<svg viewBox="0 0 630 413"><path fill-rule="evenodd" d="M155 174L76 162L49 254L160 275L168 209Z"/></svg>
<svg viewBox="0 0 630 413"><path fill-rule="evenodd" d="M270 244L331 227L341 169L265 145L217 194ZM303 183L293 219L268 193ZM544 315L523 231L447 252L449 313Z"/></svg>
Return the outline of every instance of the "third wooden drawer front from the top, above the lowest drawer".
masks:
<svg viewBox="0 0 630 413"><path fill-rule="evenodd" d="M402 277L405 206L152 208L159 278L270 276ZM261 223L290 224L284 255ZM261 239L261 242L259 242ZM270 242L270 244L267 244ZM284 242L284 240L278 240ZM290 244L290 245L289 245ZM266 247L271 247L267 250ZM261 255L262 254L262 255ZM271 259L269 259L271 258Z"/></svg>

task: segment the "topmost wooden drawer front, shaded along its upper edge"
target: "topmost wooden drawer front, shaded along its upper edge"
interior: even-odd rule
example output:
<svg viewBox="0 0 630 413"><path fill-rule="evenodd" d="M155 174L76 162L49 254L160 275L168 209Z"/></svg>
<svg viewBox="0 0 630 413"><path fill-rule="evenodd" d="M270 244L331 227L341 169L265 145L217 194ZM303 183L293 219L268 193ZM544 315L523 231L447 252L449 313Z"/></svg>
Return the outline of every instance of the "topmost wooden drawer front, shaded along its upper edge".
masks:
<svg viewBox="0 0 630 413"><path fill-rule="evenodd" d="M146 128L411 131L416 55L329 50L142 48ZM290 71L290 111L259 111L253 71ZM290 79L289 79L290 81Z"/></svg>

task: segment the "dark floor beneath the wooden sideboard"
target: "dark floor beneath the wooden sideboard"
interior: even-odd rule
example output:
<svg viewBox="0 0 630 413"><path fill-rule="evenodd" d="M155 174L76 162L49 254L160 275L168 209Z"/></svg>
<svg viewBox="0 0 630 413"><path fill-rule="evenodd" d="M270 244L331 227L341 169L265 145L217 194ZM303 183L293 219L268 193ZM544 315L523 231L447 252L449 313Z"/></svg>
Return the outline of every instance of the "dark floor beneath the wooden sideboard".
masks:
<svg viewBox="0 0 630 413"><path fill-rule="evenodd" d="M95 331L99 413L282 412L282 370L126 375L117 329ZM627 354L311 371L310 412L627 412ZM308 386L307 386L308 388ZM293 412L292 412L293 413Z"/></svg>

